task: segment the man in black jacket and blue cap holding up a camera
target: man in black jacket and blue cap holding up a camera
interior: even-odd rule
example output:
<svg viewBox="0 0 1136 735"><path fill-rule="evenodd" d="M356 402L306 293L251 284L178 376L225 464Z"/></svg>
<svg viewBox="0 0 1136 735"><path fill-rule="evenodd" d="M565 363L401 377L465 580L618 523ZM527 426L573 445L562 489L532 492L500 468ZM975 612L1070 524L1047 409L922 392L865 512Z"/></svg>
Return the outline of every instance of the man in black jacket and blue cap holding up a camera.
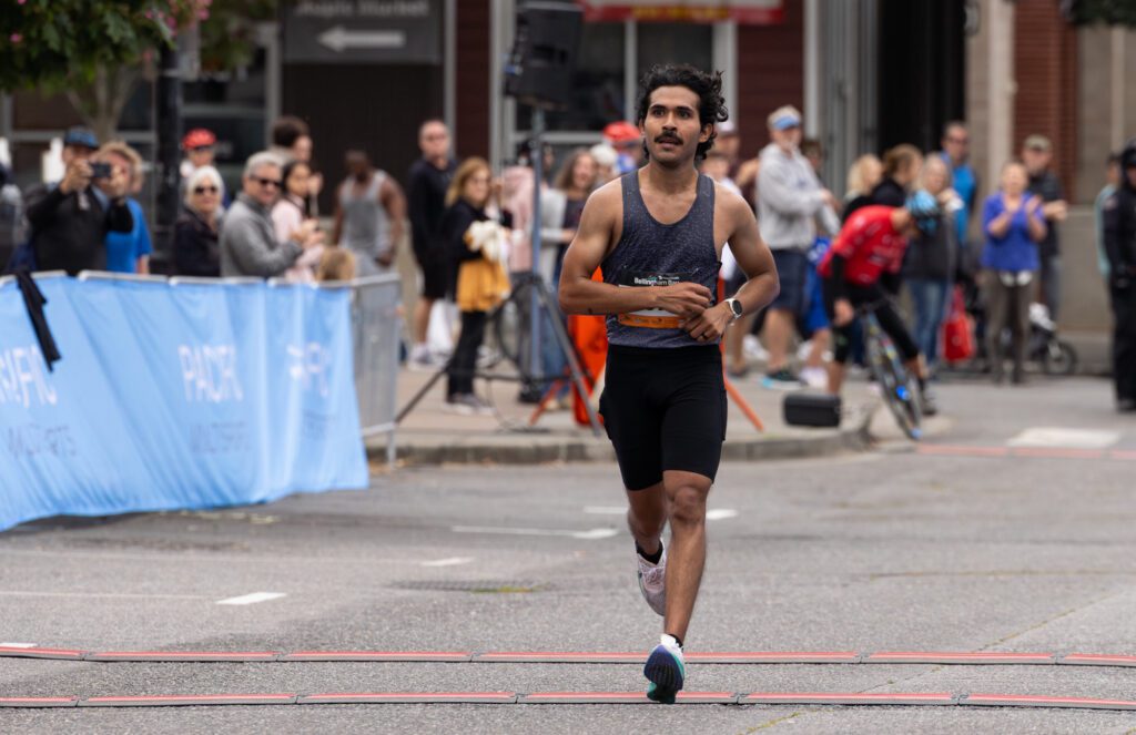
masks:
<svg viewBox="0 0 1136 735"><path fill-rule="evenodd" d="M107 265L107 233L131 232L134 217L126 206L128 172L109 165L109 175L95 178L94 133L73 127L64 137L64 165L58 185L37 185L27 192L27 222L36 270L102 270ZM102 172L99 172L100 174Z"/></svg>

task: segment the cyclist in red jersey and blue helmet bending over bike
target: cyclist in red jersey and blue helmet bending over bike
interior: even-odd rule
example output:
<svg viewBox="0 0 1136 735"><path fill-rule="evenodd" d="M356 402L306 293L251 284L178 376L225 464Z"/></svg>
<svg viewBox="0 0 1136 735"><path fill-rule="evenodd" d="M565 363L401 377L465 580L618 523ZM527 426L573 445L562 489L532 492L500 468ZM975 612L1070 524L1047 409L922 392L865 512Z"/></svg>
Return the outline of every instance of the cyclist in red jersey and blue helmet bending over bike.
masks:
<svg viewBox="0 0 1136 735"><path fill-rule="evenodd" d="M851 353L855 309L870 306L879 326L895 343L903 361L919 381L922 411L937 409L926 391L927 366L902 317L895 310L887 282L899 277L908 237L934 234L939 227L938 202L924 190L908 197L903 207L862 207L841 228L817 269L824 279L825 309L833 325L833 360L828 366L828 392L840 395Z"/></svg>

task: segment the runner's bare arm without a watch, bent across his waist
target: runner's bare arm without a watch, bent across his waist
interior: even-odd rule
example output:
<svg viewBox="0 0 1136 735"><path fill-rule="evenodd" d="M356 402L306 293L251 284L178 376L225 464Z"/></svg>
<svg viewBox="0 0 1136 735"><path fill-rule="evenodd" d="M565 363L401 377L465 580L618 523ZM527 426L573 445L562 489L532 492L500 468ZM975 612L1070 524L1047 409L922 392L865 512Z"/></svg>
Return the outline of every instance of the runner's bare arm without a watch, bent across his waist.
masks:
<svg viewBox="0 0 1136 735"><path fill-rule="evenodd" d="M696 283L652 289L620 289L592 281L592 274L616 245L616 225L623 211L619 179L604 185L584 204L576 237L565 253L560 274L560 309L566 314L624 314L666 309L693 317L710 306L710 291Z"/></svg>

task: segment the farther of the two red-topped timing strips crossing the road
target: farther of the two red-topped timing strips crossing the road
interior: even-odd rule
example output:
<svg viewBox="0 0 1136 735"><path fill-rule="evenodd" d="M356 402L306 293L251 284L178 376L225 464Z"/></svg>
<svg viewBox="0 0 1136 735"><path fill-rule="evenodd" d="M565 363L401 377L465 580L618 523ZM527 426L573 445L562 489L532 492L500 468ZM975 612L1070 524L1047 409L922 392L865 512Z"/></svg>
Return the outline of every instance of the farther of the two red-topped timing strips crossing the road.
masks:
<svg viewBox="0 0 1136 735"><path fill-rule="evenodd" d="M404 663L643 663L643 652L593 651L87 651L43 646L0 646L0 658L148 663L302 663L306 661ZM903 665L1097 666L1136 668L1136 655L1120 653L1020 653L1002 651L738 651L687 652L702 665Z"/></svg>

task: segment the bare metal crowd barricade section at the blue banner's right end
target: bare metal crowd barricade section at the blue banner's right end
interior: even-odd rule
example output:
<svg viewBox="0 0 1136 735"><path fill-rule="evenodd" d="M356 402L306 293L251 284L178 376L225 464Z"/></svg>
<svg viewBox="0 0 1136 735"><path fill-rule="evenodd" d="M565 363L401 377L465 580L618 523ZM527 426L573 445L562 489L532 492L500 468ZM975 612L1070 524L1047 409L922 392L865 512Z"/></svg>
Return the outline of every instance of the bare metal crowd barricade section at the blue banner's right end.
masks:
<svg viewBox="0 0 1136 735"><path fill-rule="evenodd" d="M356 278L351 286L356 392L364 439L386 434L386 461L395 458L402 281L395 274Z"/></svg>

